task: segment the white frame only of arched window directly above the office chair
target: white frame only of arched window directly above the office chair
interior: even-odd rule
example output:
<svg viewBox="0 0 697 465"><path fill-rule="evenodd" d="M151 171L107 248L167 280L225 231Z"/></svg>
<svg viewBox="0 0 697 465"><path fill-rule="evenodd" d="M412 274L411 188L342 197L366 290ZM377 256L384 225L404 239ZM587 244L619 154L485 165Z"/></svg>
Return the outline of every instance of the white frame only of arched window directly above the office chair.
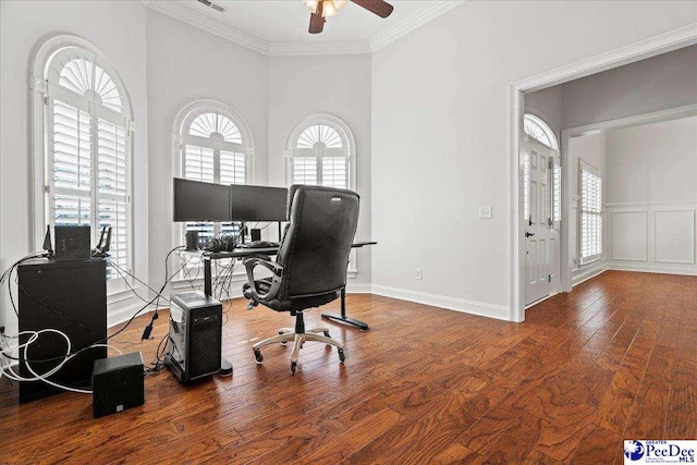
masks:
<svg viewBox="0 0 697 465"><path fill-rule="evenodd" d="M301 135L315 125L326 125L334 130L342 140L342 148L297 148L297 142ZM346 123L341 119L327 113L310 114L301 120L289 133L285 143L285 179L286 184L293 184L293 159L301 156L317 157L317 173L321 176L321 158L327 155L341 155L346 158L346 188L356 189L356 140ZM318 179L321 183L321 178Z"/></svg>

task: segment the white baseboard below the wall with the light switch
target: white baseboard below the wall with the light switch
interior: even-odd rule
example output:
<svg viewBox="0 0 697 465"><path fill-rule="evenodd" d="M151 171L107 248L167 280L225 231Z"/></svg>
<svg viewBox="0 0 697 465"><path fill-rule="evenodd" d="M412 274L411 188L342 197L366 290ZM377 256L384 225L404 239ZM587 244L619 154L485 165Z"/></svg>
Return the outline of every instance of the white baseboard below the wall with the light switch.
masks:
<svg viewBox="0 0 697 465"><path fill-rule="evenodd" d="M498 320L511 321L511 311L503 305L486 304L484 302L466 301L447 295L429 294L426 292L411 291L406 289L390 287L387 285L371 285L371 293L384 297L399 298L402 301L416 302L418 304L431 305L433 307L449 310L462 311L480 317L496 318Z"/></svg>

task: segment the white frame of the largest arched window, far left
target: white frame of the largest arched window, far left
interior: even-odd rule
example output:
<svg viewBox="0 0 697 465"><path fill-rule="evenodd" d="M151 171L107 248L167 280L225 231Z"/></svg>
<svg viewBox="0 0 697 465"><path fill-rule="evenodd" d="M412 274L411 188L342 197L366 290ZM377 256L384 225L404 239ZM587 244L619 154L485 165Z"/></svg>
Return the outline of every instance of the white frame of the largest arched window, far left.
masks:
<svg viewBox="0 0 697 465"><path fill-rule="evenodd" d="M60 83L60 73L58 69L59 59L63 64L66 57L84 58L89 60L94 65L99 66L112 81L117 88L121 111L117 111L113 105L107 105L101 99L94 98L95 94L81 95ZM70 61L70 60L68 60ZM96 70L93 69L93 70ZM93 74L93 76L95 76ZM125 204L125 209L120 215L125 215L126 249L125 249L125 268L132 270L134 267L133 254L133 135L135 132L135 123L133 121L133 108L127 89L123 84L115 66L106 57L106 54L89 41L71 35L58 35L44 41L34 53L32 68L29 69L29 87L30 87L30 120L32 120L32 138L30 151L32 157L32 199L30 199L30 243L33 248L40 249L44 243L44 234L47 224L54 224L53 196L59 194L61 188L56 188L53 171L53 158L51 157L54 144L53 124L51 115L53 114L53 106L56 100L70 105L89 115L91 145L90 145L90 220L91 241L96 244L100 234L100 213L99 200L120 201ZM93 98L90 98L93 97ZM112 195L99 192L99 124L118 126L123 131L123 146L125 157L125 186L119 188L122 194ZM105 126L106 126L105 124ZM102 126L103 127L103 126ZM114 127L115 131L115 127ZM103 154L103 152L102 152ZM114 236L112 236L112 250L114 249ZM123 257L123 256L122 256ZM117 254L112 254L112 259L117 260ZM117 273L110 274L118 278ZM120 280L114 280L120 281ZM115 292L122 289L122 284L114 287L109 283L109 291ZM115 285L115 284L114 284Z"/></svg>

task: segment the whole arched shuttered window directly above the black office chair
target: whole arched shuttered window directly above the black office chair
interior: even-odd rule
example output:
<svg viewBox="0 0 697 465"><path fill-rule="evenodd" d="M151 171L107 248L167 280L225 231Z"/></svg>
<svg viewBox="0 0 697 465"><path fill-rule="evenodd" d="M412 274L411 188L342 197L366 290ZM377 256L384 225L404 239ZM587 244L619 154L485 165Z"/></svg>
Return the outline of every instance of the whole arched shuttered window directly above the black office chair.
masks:
<svg viewBox="0 0 697 465"><path fill-rule="evenodd" d="M355 142L348 126L329 114L306 118L288 142L288 182L355 188Z"/></svg>

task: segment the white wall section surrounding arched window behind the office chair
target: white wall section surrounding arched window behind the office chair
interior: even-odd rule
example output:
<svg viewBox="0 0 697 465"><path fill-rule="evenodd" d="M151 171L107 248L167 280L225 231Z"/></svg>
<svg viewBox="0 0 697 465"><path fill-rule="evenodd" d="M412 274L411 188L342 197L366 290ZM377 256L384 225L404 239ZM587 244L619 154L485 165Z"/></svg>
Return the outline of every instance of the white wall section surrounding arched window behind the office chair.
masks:
<svg viewBox="0 0 697 465"><path fill-rule="evenodd" d="M286 186L285 145L303 118L329 113L341 119L356 139L356 189L360 195L356 238L381 244L389 238L370 233L370 66L369 54L270 59L269 183ZM363 290L356 284L370 283L371 248L358 249L357 273L348 282L350 292Z"/></svg>

